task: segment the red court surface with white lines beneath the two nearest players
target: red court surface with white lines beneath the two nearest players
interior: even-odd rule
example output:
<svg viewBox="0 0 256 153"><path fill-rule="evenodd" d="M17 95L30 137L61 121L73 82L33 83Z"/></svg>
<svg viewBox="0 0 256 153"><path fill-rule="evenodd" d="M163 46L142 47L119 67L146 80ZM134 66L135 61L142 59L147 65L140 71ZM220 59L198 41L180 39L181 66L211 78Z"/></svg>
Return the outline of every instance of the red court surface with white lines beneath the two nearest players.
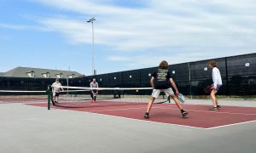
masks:
<svg viewBox="0 0 256 153"><path fill-rule="evenodd" d="M85 102L84 102L85 103ZM110 102L109 102L110 103ZM117 102L113 102L117 103ZM47 104L27 104L34 106L47 107ZM77 105L77 107L76 107ZM108 104L110 105L110 104ZM137 120L145 120L150 122L160 122L166 124L176 124L187 127L198 128L215 128L223 127L243 122L256 121L256 108L254 107L240 107L240 106L222 106L221 110L208 111L211 105L183 105L183 109L189 112L186 118L181 116L180 111L176 105L158 104L153 105L150 111L150 118L144 119L143 115L146 111L147 104L137 105L101 105L100 102L96 104L86 103L86 105L78 106L73 103L73 108L52 106L51 109L61 109L70 111L86 111L102 115L120 116ZM72 107L72 106L71 106ZM46 109L46 108L45 108Z"/></svg>

